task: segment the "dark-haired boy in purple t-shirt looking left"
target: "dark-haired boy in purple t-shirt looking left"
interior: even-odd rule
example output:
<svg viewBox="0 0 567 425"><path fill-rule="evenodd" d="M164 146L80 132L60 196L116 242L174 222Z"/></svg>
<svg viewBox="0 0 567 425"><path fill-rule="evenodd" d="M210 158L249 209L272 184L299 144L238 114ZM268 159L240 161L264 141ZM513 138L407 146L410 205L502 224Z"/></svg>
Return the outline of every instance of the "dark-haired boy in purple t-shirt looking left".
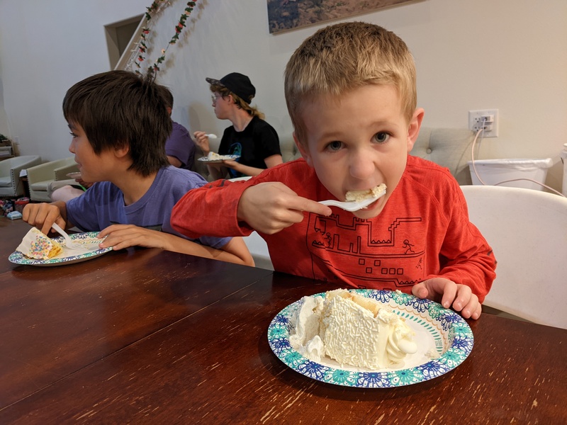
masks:
<svg viewBox="0 0 567 425"><path fill-rule="evenodd" d="M241 237L190 239L172 229L174 204L206 180L169 166L172 120L154 81L125 71L93 75L67 91L63 114L82 179L96 183L67 202L26 205L23 220L45 234L54 222L100 231L101 248L147 246L254 265Z"/></svg>

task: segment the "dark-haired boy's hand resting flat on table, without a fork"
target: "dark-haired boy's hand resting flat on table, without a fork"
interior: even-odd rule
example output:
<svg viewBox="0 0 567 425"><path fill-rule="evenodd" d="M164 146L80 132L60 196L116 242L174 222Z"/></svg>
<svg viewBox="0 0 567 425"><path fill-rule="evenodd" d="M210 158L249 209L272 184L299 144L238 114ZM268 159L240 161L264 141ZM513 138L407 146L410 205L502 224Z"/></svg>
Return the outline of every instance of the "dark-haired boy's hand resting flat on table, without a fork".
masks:
<svg viewBox="0 0 567 425"><path fill-rule="evenodd" d="M113 250L117 251L129 246L169 249L165 235L163 232L135 225L111 225L101 230L97 237L100 239L106 237L99 244L101 248L112 247Z"/></svg>

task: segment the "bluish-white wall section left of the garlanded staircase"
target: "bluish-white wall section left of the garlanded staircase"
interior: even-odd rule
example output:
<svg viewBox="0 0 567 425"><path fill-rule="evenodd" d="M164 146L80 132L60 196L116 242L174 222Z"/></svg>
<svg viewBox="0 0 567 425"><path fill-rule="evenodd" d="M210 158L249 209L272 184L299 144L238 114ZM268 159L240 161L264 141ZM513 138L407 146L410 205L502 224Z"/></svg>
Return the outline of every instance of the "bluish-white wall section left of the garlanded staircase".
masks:
<svg viewBox="0 0 567 425"><path fill-rule="evenodd" d="M17 137L21 154L71 156L64 94L77 81L110 69L104 26L143 13L147 3L0 1L0 133Z"/></svg>

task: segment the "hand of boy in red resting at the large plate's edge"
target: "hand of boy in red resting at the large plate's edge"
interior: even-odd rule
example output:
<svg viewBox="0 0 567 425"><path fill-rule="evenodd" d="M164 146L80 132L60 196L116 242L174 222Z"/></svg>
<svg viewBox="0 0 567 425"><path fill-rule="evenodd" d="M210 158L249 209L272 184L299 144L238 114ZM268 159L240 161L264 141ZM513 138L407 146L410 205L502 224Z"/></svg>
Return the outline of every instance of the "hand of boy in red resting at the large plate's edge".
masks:
<svg viewBox="0 0 567 425"><path fill-rule="evenodd" d="M445 308L453 307L465 319L481 317L481 303L467 285L459 285L445 278L432 278L413 285L412 294L441 302Z"/></svg>

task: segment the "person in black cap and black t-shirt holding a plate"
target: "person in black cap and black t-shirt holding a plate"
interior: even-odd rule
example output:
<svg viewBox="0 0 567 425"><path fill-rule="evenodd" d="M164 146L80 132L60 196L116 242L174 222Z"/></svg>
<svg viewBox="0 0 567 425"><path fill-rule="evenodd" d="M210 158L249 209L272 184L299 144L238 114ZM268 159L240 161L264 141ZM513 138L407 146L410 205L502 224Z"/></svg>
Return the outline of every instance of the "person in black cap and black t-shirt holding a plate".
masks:
<svg viewBox="0 0 567 425"><path fill-rule="evenodd" d="M218 154L238 155L235 161L207 164L213 179L232 179L257 176L264 169L282 164L281 149L276 130L264 121L264 114L250 102L256 89L250 79L232 72L218 79L207 78L213 92L213 108L220 120L230 120L220 140ZM208 136L203 131L193 133L195 142L204 155L210 152Z"/></svg>

